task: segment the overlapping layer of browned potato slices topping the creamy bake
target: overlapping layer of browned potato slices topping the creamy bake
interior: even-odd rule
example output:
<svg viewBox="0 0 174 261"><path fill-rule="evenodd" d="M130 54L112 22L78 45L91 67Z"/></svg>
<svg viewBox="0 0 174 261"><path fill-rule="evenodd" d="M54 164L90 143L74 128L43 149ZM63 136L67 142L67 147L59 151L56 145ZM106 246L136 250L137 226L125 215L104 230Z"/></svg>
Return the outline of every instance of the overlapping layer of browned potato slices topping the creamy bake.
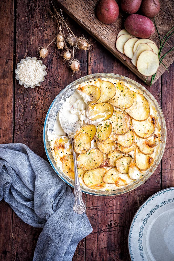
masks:
<svg viewBox="0 0 174 261"><path fill-rule="evenodd" d="M90 122L98 122L85 125L75 133L79 176L91 189L105 189L106 184L126 186L139 179L142 171L154 162L154 147L158 144L158 136L154 135L156 119L150 115L145 96L131 91L122 82L114 85L98 79L96 86L92 86L78 89L88 100L86 115ZM97 96L88 91L94 87L100 90L96 92ZM65 142L65 138L62 143L60 139L56 141L54 150L62 153L63 171L73 179L73 156Z"/></svg>

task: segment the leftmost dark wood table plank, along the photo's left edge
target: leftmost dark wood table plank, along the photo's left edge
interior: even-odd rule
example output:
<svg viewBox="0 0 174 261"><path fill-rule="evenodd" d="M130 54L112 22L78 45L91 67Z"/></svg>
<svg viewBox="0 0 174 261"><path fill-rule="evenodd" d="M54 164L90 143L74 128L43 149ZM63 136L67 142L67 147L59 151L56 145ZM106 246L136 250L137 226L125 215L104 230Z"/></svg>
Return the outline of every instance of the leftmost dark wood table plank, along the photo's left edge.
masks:
<svg viewBox="0 0 174 261"><path fill-rule="evenodd" d="M0 2L0 139L13 142L13 1ZM12 210L0 202L0 259L11 260Z"/></svg>

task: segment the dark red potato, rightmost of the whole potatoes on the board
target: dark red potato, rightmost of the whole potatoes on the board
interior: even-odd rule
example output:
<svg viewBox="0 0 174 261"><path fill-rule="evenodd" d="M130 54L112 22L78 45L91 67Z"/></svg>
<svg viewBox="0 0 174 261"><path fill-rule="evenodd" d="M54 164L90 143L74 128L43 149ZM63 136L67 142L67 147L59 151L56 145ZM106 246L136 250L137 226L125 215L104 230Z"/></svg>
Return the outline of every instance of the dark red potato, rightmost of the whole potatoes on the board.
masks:
<svg viewBox="0 0 174 261"><path fill-rule="evenodd" d="M143 0L141 4L141 12L143 15L152 18L159 13L161 4L159 0Z"/></svg>

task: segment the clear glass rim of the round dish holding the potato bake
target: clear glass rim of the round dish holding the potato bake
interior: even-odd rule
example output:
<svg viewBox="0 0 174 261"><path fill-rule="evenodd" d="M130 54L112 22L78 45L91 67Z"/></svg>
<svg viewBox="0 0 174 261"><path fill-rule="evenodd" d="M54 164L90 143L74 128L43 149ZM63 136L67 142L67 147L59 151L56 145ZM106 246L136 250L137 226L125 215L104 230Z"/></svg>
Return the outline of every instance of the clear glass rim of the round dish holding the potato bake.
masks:
<svg viewBox="0 0 174 261"><path fill-rule="evenodd" d="M123 193L129 192L129 191L137 188L154 173L154 171L157 169L157 167L163 157L163 153L165 150L165 144L166 144L166 124L165 124L163 112L162 112L157 100L153 97L153 95L145 87L143 87L136 81L131 80L125 76L118 75L118 74L97 73L97 74L91 74L91 75L84 76L84 77L77 79L74 82L70 83L53 100L53 102L47 112L47 115L45 118L45 123L44 123L44 133L43 133L44 147L45 147L46 155L49 159L49 162L50 162L51 166L53 167L53 169L58 174L58 176L61 177L61 179L64 180L68 185L70 185L71 187L74 187L73 180L69 179L69 177L67 177L59 169L58 165L54 161L47 133L48 132L50 133L53 131L54 124L57 120L58 111L60 110L62 104L64 103L64 100L66 98L70 97L74 93L74 91L76 90L76 86L85 81L90 81L92 79L98 79L98 78L108 79L108 80L109 79L120 80L127 84L132 85L134 88L136 88L137 90L142 92L143 95L145 96L145 98L153 104L155 110L157 111L158 121L161 126L161 141L160 141L157 157L155 157L154 162L151 165L151 167L148 170L144 171L143 176L141 176L137 180L134 180L133 183L131 183L125 187L118 188L116 190L103 190L102 191L102 190L97 190L97 189L91 189L91 188L85 187L83 185L81 186L82 192L91 194L91 195L98 195L98 196L119 195L119 194L123 194Z"/></svg>

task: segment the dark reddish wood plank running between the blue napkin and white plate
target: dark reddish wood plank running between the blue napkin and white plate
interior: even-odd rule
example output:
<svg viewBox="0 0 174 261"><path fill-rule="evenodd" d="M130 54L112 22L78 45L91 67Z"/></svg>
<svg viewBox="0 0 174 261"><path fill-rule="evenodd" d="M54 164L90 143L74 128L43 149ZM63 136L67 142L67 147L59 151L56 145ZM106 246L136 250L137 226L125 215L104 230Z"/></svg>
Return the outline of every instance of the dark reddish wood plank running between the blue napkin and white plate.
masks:
<svg viewBox="0 0 174 261"><path fill-rule="evenodd" d="M110 72L143 82L127 67L120 64L99 43L89 52L88 73ZM148 88L161 104L160 79ZM132 218L139 206L152 194L160 190L160 168L134 191L113 197L87 195L87 216L93 232L86 238L86 260L130 260L128 232Z"/></svg>

